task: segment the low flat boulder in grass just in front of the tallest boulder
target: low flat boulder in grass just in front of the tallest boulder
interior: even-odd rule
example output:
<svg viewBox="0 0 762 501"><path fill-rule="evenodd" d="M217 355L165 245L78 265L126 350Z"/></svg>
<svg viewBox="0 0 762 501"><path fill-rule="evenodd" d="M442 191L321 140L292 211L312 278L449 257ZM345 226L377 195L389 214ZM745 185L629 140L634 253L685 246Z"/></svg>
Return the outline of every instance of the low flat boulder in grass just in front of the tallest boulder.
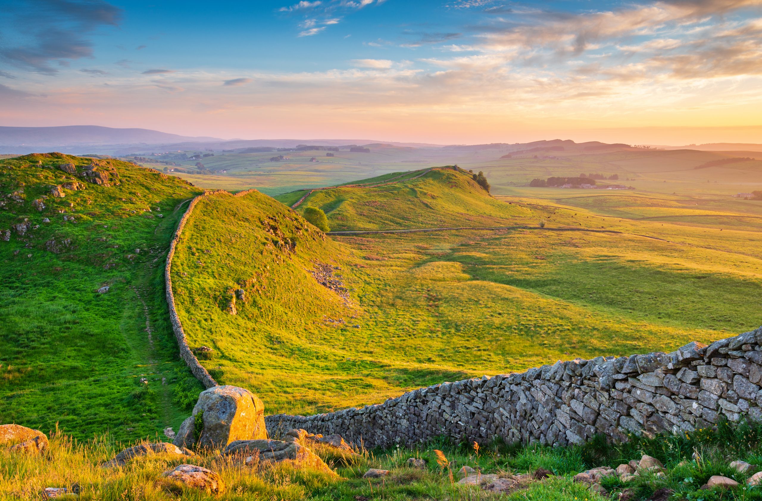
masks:
<svg viewBox="0 0 762 501"><path fill-rule="evenodd" d="M294 467L310 467L326 473L334 473L317 454L297 442L236 440L225 448L223 454L242 456L246 464L286 463Z"/></svg>

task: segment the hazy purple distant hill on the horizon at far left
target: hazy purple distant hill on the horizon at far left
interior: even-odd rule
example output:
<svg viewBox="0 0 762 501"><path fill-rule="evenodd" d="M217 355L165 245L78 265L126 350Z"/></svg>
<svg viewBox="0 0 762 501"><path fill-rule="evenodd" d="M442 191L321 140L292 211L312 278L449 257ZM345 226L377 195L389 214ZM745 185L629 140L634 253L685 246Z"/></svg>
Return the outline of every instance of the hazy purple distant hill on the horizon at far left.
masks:
<svg viewBox="0 0 762 501"><path fill-rule="evenodd" d="M0 127L2 146L76 146L104 144L161 144L222 141L215 137L178 136L150 129L114 129L98 125L63 127Z"/></svg>

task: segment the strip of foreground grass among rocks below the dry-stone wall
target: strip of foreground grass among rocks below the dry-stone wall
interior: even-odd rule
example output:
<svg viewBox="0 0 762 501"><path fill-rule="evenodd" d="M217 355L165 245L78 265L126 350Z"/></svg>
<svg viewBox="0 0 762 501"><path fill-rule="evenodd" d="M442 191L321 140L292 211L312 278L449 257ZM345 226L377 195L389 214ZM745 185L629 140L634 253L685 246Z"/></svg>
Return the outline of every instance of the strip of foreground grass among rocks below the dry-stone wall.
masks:
<svg viewBox="0 0 762 501"><path fill-rule="evenodd" d="M627 493L632 501L645 501L660 489L671 491L670 499L704 499L704 501L759 501L762 487L747 487L745 482L762 466L760 456L762 429L741 423L728 426L721 422L716 430L697 430L680 435L657 438L631 436L621 445L607 444L598 436L588 444L567 448L549 448L539 445L506 445L501 442L481 444L475 451L471 444L450 444L434 440L416 448L391 448L367 451L357 449L356 456L347 457L326 445L304 442L318 454L338 475L294 468L290 465L245 466L236 458L223 458L218 454L200 454L193 458L170 458L152 455L135 458L124 467L101 468L100 464L114 458L122 448L109 435L76 442L60 432L51 436L50 449L40 455L14 454L0 450L0 496L3 499L41 499L45 487L71 488L77 484L81 490L78 499L104 501L140 499L163 501L168 499L314 499L323 501L357 501L357 499L452 499L453 501L604 501L620 499ZM448 464L437 464L436 451L440 451ZM629 482L619 477L604 477L601 485L605 494L595 494L584 483L575 483L572 477L591 467L617 465L639 460L648 454L660 460L663 475L637 475ZM408 458L425 461L422 469L408 467ZM730 467L736 460L748 461L754 469L741 474ZM215 471L224 483L224 491L211 496L191 488L173 486L162 479L162 473L177 464L199 464ZM482 474L512 477L532 474L538 468L549 470L552 476L528 483L522 489L499 496L479 487L460 485L457 470L472 467ZM383 479L363 479L370 468L389 470ZM453 473L453 478L450 478ZM733 489L701 490L712 475L737 480L741 485Z"/></svg>

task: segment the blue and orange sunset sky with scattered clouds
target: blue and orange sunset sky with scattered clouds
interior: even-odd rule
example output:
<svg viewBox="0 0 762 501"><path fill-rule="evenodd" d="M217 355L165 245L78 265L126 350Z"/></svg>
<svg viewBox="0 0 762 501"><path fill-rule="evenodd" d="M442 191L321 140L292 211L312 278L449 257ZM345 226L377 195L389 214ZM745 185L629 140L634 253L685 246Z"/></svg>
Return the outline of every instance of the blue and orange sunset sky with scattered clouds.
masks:
<svg viewBox="0 0 762 501"><path fill-rule="evenodd" d="M762 143L762 0L0 0L0 125Z"/></svg>

